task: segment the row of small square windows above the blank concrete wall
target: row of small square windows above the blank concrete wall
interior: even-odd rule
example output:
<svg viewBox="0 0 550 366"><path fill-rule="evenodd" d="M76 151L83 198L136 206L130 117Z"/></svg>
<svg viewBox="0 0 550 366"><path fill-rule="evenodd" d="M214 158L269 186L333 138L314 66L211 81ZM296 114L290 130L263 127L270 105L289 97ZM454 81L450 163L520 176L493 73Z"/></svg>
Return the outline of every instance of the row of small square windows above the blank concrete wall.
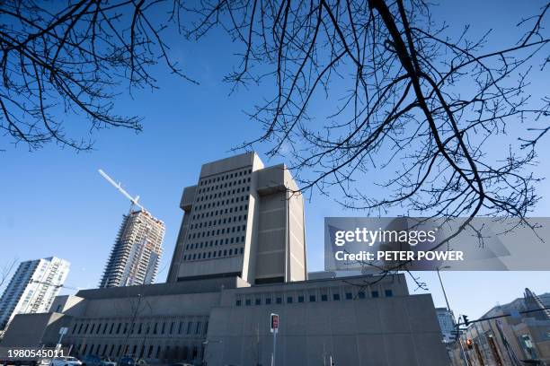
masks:
<svg viewBox="0 0 550 366"><path fill-rule="evenodd" d="M384 296L385 297L392 297L394 296L394 292L390 289L386 289L384 290ZM376 299L376 298L379 298L380 297L380 292L378 292L377 290L373 290L370 292L370 297L373 298L373 299ZM357 294L353 294L353 292L345 292L343 294L343 299L344 300L354 300L354 299L366 299L367 298L367 292L365 291L359 291L357 292ZM276 295L274 298L272 298L271 296L266 296L266 297L256 297L256 298L249 298L249 299L244 299L244 305L245 306L251 306L251 305L271 305L273 303L275 304L282 304L283 302L286 302L288 304L291 304L291 303L294 303L294 302L315 302L315 301L329 301L329 299L331 299L332 301L341 301L342 300L342 296L341 296L341 293L340 292L334 292L332 294L332 298L329 297L329 294L328 293L322 293L321 296L317 296L317 294L308 294L308 295L297 295L297 296L293 296L293 295L287 295L286 297L283 297L283 295ZM242 299L239 299L237 298L235 300L235 305L236 306L242 306L243 305L243 300Z"/></svg>

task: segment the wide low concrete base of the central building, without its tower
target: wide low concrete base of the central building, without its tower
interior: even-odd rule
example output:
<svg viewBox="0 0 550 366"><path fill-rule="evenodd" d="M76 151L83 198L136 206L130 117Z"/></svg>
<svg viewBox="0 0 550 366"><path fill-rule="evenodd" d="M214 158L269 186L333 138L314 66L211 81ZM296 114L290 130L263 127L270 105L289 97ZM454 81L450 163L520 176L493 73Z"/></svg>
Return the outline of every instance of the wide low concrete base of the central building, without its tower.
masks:
<svg viewBox="0 0 550 366"><path fill-rule="evenodd" d="M35 314L40 319L16 317L2 345L37 345L26 344L36 339L32 322L49 325L49 336L40 339L46 346L57 343L53 328L68 327L63 344L77 356L269 365L270 314L277 313L280 365L448 365L431 297L410 295L403 274L260 285L225 277L84 290L59 296L52 309L58 311Z"/></svg>

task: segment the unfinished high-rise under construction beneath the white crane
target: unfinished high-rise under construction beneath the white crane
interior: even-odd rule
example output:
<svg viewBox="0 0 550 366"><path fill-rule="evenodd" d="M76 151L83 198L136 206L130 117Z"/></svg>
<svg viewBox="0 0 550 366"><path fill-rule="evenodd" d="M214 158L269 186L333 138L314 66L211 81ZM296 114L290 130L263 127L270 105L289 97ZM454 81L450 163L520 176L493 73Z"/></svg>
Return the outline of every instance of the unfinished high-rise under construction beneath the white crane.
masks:
<svg viewBox="0 0 550 366"><path fill-rule="evenodd" d="M146 210L124 215L100 287L153 283L162 254L164 231L164 222Z"/></svg>

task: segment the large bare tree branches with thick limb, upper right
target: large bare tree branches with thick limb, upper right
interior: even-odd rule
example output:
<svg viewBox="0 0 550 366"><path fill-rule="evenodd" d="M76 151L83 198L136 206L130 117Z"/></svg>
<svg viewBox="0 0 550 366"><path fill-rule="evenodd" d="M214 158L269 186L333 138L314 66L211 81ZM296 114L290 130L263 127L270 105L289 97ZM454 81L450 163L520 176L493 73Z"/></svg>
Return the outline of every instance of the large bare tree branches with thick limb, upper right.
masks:
<svg viewBox="0 0 550 366"><path fill-rule="evenodd" d="M524 217L550 128L550 97L528 93L549 60L549 6L526 9L535 15L517 42L488 51L489 34L472 40L465 25L450 38L422 0L201 1L187 9L188 34L223 26L243 49L226 80L275 85L250 113L264 134L243 147L290 156L302 190L340 190L342 205L368 214ZM319 116L314 102L333 113ZM519 123L526 135L499 143ZM386 167L393 177L375 180L383 196L360 187Z"/></svg>

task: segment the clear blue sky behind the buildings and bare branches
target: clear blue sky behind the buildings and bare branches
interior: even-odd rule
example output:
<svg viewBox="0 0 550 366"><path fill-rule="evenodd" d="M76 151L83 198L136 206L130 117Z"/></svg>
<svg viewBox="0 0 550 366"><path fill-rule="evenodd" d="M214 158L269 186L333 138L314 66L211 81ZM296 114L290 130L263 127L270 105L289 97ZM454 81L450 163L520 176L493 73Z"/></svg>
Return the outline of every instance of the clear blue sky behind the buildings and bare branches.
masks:
<svg viewBox="0 0 550 366"><path fill-rule="evenodd" d="M535 11L536 6L532 9ZM520 2L511 1L448 2L436 11L456 30L464 22L471 22L479 33L494 28L495 44L511 43L510 33L502 27L517 23L520 13L529 12ZM22 144L0 153L0 266L13 257L26 260L55 255L71 262L67 286L96 286L121 216L129 209L128 200L97 173L101 168L121 181L130 194L141 196L142 205L166 223L157 278L157 282L164 281L182 219L178 207L182 188L196 183L202 163L232 154L232 148L261 132L243 111L250 110L265 89L241 88L230 95L230 85L221 83L231 71L234 51L221 32L211 33L199 44L173 42L173 57L200 85L158 71L160 89L137 91L132 98L120 96L120 113L145 118L141 134L123 129L94 132L97 142L90 153L55 145L30 153ZM535 92L537 88L541 94L545 92L544 81L538 80ZM84 131L81 122L67 119L67 132ZM0 139L5 145L4 137ZM267 160L263 153L268 149L267 145L257 146L267 165L284 162ZM545 161L549 153L547 146L539 152L542 163L537 172L543 176L549 171ZM365 189L371 188L372 182L366 178ZM535 214L548 216L550 183L543 181L539 193L544 198ZM306 203L310 270L323 269L324 217L338 215L359 213L345 211L331 198L315 193ZM437 275L419 275L428 283L436 305L444 306ZM550 273L457 272L442 276L451 306L470 318L481 316L497 302L519 297L525 287L536 293L550 292Z"/></svg>

